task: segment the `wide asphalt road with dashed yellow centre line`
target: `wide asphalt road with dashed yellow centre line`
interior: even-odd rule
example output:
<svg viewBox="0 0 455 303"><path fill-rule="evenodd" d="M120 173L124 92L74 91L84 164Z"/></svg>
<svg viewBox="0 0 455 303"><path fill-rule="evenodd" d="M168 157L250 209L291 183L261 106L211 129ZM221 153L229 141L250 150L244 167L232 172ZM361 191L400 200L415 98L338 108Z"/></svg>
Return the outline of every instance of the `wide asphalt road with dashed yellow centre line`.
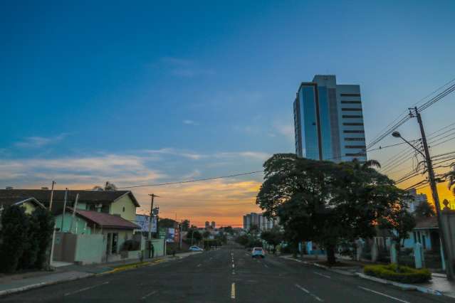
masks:
<svg viewBox="0 0 455 303"><path fill-rule="evenodd" d="M90 277L0 302L455 302L226 246L181 260Z"/></svg>

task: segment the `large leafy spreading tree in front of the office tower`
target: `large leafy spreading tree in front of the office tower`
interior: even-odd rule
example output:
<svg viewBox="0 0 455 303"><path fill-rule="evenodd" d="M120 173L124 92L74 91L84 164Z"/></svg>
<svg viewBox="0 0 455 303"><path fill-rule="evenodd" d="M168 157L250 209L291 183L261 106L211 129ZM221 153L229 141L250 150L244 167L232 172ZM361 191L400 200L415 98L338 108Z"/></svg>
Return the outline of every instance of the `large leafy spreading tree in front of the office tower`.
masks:
<svg viewBox="0 0 455 303"><path fill-rule="evenodd" d="M265 181L256 203L266 216L278 216L286 238L313 240L335 262L341 240L370 238L377 220L404 196L377 161L315 161L275 154L264 164Z"/></svg>

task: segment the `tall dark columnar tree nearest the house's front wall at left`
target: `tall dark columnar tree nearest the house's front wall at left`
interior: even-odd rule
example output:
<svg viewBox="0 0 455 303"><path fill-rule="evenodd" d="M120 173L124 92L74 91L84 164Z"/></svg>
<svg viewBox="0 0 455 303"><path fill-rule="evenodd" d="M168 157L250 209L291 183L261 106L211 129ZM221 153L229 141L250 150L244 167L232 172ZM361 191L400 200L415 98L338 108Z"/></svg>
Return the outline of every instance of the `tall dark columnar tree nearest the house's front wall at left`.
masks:
<svg viewBox="0 0 455 303"><path fill-rule="evenodd" d="M45 208L36 208L31 216L39 230L39 233L36 234L36 238L38 238L38 253L36 255L35 267L41 269L46 265L48 252L50 253L49 248L55 221L52 213Z"/></svg>

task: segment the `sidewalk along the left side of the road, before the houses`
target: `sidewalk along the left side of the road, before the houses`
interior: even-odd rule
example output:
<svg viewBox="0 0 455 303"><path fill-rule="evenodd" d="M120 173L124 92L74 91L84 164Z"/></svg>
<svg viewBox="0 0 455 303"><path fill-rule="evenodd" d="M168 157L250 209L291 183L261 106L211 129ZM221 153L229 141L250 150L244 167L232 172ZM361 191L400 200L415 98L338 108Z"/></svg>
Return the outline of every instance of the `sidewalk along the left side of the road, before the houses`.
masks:
<svg viewBox="0 0 455 303"><path fill-rule="evenodd" d="M159 262L167 262L169 260L182 259L189 255L194 255L199 252L182 252L176 254L175 257L167 255L163 257L155 257L144 259L140 263L139 259L125 260L119 262L93 264L93 265L63 265L56 267L54 271L39 271L39 272L24 272L17 275L0 276L0 296L12 294L15 292L23 292L28 289L53 285L61 282L68 282L94 275L107 274L120 270L132 268L129 265L152 265ZM139 264L140 263L140 264ZM69 264L69 263L68 263Z"/></svg>

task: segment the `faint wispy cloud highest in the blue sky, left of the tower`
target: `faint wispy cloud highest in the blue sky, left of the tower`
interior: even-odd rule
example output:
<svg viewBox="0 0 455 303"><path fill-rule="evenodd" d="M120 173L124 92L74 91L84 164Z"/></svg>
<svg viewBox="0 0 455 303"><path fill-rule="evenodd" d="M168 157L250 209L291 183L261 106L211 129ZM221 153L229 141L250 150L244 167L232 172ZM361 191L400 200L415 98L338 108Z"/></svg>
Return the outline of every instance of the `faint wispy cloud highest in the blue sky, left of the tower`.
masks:
<svg viewBox="0 0 455 303"><path fill-rule="evenodd" d="M171 75L193 78L199 75L214 75L214 70L203 68L196 61L184 58L164 57L162 63L167 66Z"/></svg>

